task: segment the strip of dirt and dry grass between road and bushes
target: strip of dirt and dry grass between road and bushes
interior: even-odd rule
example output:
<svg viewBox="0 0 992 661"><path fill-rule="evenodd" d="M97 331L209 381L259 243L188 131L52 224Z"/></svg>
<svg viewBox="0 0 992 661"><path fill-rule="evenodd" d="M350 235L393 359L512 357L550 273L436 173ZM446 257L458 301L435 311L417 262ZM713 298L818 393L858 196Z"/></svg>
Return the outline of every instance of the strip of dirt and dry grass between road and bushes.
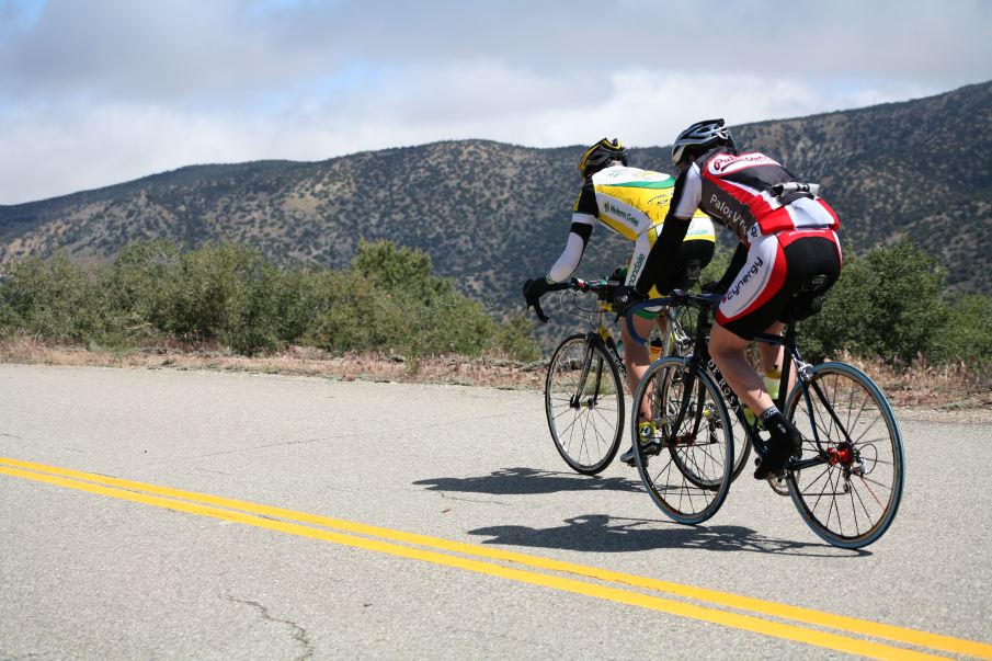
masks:
<svg viewBox="0 0 992 661"><path fill-rule="evenodd" d="M896 373L883 364L845 358L871 375L899 417L959 424L992 424L992 388L965 366L915 368ZM206 369L313 376L334 380L445 384L487 388L541 390L544 363L500 357L446 356L410 361L401 356L345 354L292 347L277 355L246 357L219 351L145 349L127 353L47 346L31 339L0 341L0 362L145 369Z"/></svg>

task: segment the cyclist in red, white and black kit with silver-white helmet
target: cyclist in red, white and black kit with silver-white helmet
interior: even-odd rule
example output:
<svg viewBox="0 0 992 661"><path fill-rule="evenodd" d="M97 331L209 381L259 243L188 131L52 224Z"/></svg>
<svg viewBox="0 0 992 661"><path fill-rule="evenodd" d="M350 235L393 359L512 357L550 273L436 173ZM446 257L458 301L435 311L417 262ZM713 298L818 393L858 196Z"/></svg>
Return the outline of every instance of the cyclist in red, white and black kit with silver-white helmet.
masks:
<svg viewBox="0 0 992 661"><path fill-rule="evenodd" d="M785 306L794 294L818 282L818 294L836 282L841 247L836 214L775 159L739 152L723 119L707 119L683 130L672 148L680 171L669 215L640 278L617 292L618 311L649 294L665 290L674 273L673 255L688 219L702 209L740 239L730 266L714 288L725 292L710 335L710 353L740 400L759 414L772 437L769 452L755 470L762 479L778 472L800 448L801 436L775 407L744 351L759 333L778 333ZM782 364L782 349L761 345L766 372Z"/></svg>

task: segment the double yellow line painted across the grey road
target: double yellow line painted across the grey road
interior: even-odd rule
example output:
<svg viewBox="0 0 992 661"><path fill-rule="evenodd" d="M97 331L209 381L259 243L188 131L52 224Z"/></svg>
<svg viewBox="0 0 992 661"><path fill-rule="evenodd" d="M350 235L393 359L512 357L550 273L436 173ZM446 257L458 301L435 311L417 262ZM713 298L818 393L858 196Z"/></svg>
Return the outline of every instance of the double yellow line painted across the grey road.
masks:
<svg viewBox="0 0 992 661"><path fill-rule="evenodd" d="M863 657L943 658L932 653L937 651L992 660L992 645L983 642L218 495L4 457L0 457L0 474L289 535L456 567ZM541 571L532 571L535 569ZM658 596L657 593L681 599ZM928 651L896 647L891 643Z"/></svg>

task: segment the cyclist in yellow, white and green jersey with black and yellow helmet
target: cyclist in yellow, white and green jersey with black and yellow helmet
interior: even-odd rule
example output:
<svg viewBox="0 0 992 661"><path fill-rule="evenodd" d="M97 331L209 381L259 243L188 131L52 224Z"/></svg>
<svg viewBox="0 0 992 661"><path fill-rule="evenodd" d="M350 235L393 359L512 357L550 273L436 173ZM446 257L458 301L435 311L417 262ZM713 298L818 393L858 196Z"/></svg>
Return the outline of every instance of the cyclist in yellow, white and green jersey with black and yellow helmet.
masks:
<svg viewBox="0 0 992 661"><path fill-rule="evenodd" d="M579 161L579 172L582 174L583 185L572 208L571 228L565 250L545 276L528 280L524 284L523 293L528 306L547 292L548 285L565 282L572 275L597 221L634 244L626 285L638 282L651 247L661 233L675 190L674 178L628 167L627 149L616 139L606 138L585 150ZM698 278L699 272L712 259L715 240L709 216L698 212L672 263L673 271L686 274L685 278L674 284L675 287L686 288L693 278ZM654 297L666 293L651 289L651 296ZM638 334L643 338L650 334L659 311L643 311L635 318ZM662 316L659 323L663 319ZM626 323L620 324L620 333L625 347L624 365L629 375L630 390L634 391L648 369L649 354L647 347L631 340Z"/></svg>

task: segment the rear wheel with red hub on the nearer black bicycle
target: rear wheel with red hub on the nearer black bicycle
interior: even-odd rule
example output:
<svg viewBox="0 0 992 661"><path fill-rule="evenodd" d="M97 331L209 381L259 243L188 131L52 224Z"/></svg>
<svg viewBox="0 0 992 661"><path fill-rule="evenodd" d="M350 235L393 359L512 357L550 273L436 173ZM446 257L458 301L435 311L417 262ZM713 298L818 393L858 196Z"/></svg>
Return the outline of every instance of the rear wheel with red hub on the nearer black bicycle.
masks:
<svg viewBox="0 0 992 661"><path fill-rule="evenodd" d="M844 363L813 367L810 406L797 385L788 418L802 433L802 458L819 463L788 470L793 502L810 529L842 548L881 537L902 498L903 453L899 425L878 386ZM813 428L820 445L813 438Z"/></svg>

